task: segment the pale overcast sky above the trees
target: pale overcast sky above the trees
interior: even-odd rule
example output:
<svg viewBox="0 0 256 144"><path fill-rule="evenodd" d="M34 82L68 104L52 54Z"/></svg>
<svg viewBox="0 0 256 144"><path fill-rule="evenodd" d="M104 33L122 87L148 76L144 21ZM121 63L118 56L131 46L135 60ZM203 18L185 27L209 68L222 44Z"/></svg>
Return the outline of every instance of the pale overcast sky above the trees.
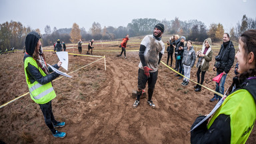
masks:
<svg viewBox="0 0 256 144"><path fill-rule="evenodd" d="M243 15L256 19L256 0L0 0L0 23L19 21L45 33L45 26L71 28L73 23L89 31L101 27L127 27L132 19L155 18L181 21L197 19L209 27L222 23L229 32Z"/></svg>

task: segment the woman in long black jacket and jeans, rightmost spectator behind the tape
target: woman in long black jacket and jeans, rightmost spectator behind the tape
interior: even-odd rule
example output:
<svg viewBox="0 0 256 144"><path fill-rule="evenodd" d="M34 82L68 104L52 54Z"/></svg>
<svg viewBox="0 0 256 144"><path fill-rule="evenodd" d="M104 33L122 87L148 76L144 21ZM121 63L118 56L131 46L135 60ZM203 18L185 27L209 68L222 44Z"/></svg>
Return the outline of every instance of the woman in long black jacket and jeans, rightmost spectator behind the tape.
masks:
<svg viewBox="0 0 256 144"><path fill-rule="evenodd" d="M223 35L223 44L221 45L221 49L219 50L219 54L215 57L215 65L213 67L213 71L217 69L217 75L223 73L223 76L221 77L221 81L219 83L216 83L216 89L218 93L223 94L224 93L224 84L225 79L227 77L227 73L229 73L229 70L231 69L233 63L235 60L235 48L230 41L229 34L224 33ZM221 97L217 94L214 94L214 97L210 99L210 102L216 101L218 99L221 99Z"/></svg>

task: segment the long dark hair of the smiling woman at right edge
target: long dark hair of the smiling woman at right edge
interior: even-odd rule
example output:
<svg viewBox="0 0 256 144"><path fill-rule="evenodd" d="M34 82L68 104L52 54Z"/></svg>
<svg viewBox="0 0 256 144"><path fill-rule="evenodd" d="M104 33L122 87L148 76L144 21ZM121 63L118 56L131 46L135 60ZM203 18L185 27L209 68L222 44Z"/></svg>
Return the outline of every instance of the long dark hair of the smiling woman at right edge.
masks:
<svg viewBox="0 0 256 144"><path fill-rule="evenodd" d="M255 68L256 68L256 30L251 29L248 31L245 31L241 37L239 38L243 42L243 50L245 51L243 57L245 60L248 60L247 55L251 52L253 52L255 61ZM233 86L236 84L241 84L247 79L248 77L253 77L256 75L256 69L248 69L247 71L240 73L233 77L233 83L231 87L229 87L229 93L231 93Z"/></svg>

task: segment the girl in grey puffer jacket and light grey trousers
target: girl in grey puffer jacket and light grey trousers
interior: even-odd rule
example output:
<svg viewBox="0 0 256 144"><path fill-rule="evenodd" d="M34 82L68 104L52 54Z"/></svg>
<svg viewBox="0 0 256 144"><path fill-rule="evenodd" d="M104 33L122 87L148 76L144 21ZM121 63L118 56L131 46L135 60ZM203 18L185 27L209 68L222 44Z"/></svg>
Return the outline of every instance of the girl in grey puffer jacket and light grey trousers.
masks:
<svg viewBox="0 0 256 144"><path fill-rule="evenodd" d="M189 85L190 71L191 68L195 65L195 50L192 46L192 41L187 42L187 47L184 48L182 64L184 67L184 79L181 85Z"/></svg>

